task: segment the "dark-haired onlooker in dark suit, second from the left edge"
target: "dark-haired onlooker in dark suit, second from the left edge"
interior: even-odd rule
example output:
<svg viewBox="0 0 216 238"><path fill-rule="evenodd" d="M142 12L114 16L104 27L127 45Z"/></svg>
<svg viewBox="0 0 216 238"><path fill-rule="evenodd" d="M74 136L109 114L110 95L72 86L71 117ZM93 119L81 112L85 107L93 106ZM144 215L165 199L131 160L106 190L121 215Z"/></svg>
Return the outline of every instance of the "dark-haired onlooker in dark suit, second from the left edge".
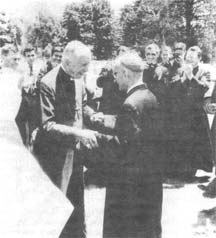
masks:
<svg viewBox="0 0 216 238"><path fill-rule="evenodd" d="M19 82L22 101L16 116L16 123L19 128L23 144L31 149L31 135L38 127L37 110L37 87L36 82L43 61L36 58L35 48L27 46L24 51L25 62L22 65L22 80Z"/></svg>

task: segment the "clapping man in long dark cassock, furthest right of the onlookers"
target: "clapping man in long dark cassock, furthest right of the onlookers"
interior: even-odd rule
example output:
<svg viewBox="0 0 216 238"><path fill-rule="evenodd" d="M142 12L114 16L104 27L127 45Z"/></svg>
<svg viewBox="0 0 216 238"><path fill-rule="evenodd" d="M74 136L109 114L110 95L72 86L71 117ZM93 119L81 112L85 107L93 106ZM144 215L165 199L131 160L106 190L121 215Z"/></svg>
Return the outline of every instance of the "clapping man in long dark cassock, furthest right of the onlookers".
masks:
<svg viewBox="0 0 216 238"><path fill-rule="evenodd" d="M194 46L186 53L186 62L170 70L170 160L171 175L193 181L197 169L212 170L212 150L208 135L204 94L208 90L208 72L200 64L201 50ZM171 152L171 151L170 151ZM173 173L173 174L172 174Z"/></svg>

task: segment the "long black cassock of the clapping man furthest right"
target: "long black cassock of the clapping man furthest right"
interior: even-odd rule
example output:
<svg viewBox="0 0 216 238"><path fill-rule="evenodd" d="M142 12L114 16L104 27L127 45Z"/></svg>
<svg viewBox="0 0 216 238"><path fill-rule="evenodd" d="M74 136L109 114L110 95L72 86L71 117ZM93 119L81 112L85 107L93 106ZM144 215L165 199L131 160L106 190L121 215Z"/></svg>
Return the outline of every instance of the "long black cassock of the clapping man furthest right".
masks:
<svg viewBox="0 0 216 238"><path fill-rule="evenodd" d="M181 68L180 77L186 77ZM173 76L171 70L170 77ZM170 81L168 97L168 165L171 176L193 175L197 169L212 170L212 148L208 118L204 111L206 72L201 66L193 69L194 78ZM195 79L196 77L196 79ZM204 80L204 81L203 81Z"/></svg>

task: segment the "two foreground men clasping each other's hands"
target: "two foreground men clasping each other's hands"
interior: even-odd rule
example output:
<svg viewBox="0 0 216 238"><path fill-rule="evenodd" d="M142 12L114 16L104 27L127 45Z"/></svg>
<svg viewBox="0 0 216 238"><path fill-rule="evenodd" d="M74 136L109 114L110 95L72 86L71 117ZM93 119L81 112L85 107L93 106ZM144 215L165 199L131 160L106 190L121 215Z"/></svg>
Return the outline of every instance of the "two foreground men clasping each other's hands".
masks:
<svg viewBox="0 0 216 238"><path fill-rule="evenodd" d="M117 115L105 115L87 103L84 75L90 60L88 47L72 41L61 64L39 83L34 154L74 206L61 237L85 237L83 157L92 151L107 153L101 159L112 181L107 185L104 237L160 237L161 115L156 96L143 82L143 61L135 53L119 56L113 73L126 97Z"/></svg>

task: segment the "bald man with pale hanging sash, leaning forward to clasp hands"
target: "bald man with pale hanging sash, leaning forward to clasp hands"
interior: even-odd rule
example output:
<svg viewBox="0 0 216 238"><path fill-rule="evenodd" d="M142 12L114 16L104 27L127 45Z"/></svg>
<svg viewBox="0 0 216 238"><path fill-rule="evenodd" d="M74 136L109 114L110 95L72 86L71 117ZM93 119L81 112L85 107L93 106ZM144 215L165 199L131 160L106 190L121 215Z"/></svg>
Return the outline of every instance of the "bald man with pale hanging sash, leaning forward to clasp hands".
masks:
<svg viewBox="0 0 216 238"><path fill-rule="evenodd" d="M62 64L39 85L40 131L34 152L74 206L61 238L85 237L83 166L78 154L81 145L88 149L97 146L97 133L83 129L83 119L90 120L94 113L86 105L83 81L90 60L89 48L71 41L63 51Z"/></svg>

